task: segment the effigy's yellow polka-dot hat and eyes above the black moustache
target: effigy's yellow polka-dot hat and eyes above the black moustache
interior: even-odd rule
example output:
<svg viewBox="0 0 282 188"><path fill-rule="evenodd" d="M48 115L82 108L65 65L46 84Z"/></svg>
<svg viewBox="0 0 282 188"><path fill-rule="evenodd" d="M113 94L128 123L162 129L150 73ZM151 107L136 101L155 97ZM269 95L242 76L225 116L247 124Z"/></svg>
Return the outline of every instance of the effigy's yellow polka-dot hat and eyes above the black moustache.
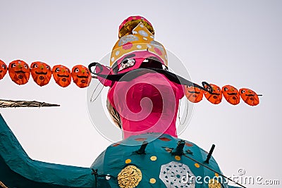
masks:
<svg viewBox="0 0 282 188"><path fill-rule="evenodd" d="M154 40L154 29L145 18L133 16L123 21L119 36L111 51L114 74L137 68L167 68L166 49Z"/></svg>

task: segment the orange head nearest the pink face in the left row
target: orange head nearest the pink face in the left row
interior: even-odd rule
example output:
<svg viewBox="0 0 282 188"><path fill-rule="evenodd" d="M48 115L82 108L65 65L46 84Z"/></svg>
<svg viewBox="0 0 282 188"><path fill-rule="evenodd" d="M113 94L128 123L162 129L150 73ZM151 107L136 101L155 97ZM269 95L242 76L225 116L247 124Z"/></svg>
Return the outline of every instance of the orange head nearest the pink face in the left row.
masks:
<svg viewBox="0 0 282 188"><path fill-rule="evenodd" d="M91 82L90 72L88 68L83 65L74 66L71 70L71 77L73 77L73 82L80 88L89 86Z"/></svg>

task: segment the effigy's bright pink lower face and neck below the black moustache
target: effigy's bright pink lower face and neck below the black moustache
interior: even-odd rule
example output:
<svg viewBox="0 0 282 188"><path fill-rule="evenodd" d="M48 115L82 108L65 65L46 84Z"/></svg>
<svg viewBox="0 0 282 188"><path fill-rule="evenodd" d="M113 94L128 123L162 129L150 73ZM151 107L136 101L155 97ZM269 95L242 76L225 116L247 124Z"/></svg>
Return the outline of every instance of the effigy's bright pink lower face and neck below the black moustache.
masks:
<svg viewBox="0 0 282 188"><path fill-rule="evenodd" d="M149 132L177 137L176 115L183 96L182 85L154 71L129 82L115 82L108 93L121 117L124 139Z"/></svg>

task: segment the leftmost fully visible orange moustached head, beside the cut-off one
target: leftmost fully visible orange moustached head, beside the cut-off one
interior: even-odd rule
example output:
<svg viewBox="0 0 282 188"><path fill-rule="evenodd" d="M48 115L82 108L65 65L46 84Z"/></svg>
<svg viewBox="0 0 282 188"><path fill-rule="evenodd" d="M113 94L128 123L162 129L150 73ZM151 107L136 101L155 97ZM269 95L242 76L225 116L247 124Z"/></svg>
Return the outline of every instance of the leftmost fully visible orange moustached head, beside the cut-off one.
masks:
<svg viewBox="0 0 282 188"><path fill-rule="evenodd" d="M8 73L11 80L16 84L26 84L30 79L30 67L25 61L12 61L8 66Z"/></svg>

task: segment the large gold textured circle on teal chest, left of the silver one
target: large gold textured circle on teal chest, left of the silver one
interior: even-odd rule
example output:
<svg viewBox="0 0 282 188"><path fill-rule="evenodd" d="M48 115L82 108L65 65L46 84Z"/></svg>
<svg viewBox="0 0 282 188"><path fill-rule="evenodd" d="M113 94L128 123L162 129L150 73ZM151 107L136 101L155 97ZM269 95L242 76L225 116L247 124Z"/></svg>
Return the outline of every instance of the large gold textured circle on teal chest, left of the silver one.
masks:
<svg viewBox="0 0 282 188"><path fill-rule="evenodd" d="M118 185L121 188L134 188L142 180L142 173L134 165L128 165L118 173Z"/></svg>

